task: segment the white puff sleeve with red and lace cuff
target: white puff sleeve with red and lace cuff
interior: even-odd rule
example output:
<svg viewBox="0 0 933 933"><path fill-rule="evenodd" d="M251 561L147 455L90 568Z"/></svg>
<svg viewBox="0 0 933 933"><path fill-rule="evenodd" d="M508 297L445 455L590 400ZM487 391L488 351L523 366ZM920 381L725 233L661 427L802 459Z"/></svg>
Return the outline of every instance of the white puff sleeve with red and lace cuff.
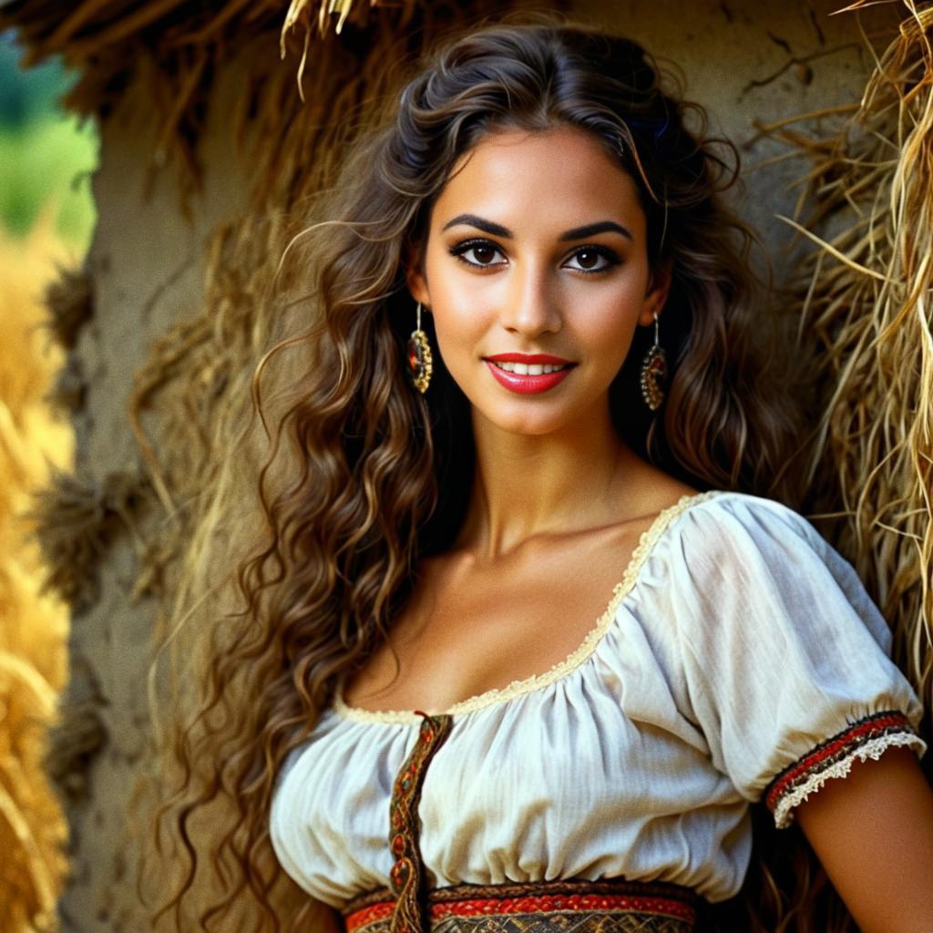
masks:
<svg viewBox="0 0 933 933"><path fill-rule="evenodd" d="M851 564L792 509L721 494L686 510L669 611L688 716L714 765L775 824L856 759L918 756L922 709Z"/></svg>

